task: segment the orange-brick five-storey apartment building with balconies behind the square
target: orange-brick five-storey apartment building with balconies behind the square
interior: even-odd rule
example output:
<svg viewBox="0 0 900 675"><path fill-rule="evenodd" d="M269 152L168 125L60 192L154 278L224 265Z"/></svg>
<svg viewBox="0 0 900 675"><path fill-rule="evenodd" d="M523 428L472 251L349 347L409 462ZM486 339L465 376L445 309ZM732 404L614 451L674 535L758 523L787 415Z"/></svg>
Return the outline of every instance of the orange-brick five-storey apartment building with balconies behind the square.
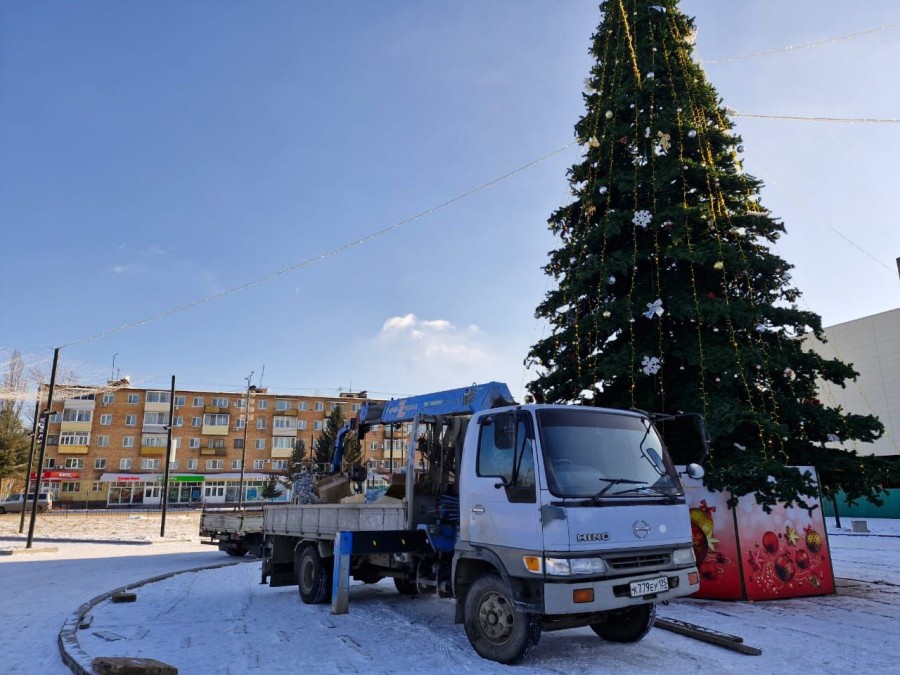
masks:
<svg viewBox="0 0 900 675"><path fill-rule="evenodd" d="M54 401L47 424L42 491L72 507L161 504L170 395L124 381L67 387L66 398ZM243 501L261 500L271 476L287 468L297 440L305 442L311 457L336 406L349 419L370 400L365 392L329 397L255 387L243 394L176 391L169 504L238 502L242 460ZM392 457L393 465L400 465L405 431L375 427L366 436L362 452L371 478L387 475Z"/></svg>

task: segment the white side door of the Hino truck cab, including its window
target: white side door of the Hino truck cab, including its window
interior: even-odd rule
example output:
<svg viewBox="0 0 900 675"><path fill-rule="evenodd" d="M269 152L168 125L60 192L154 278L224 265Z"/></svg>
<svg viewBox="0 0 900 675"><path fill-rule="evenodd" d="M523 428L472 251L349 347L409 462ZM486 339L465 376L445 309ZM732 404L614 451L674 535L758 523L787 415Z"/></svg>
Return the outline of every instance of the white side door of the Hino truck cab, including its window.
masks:
<svg viewBox="0 0 900 675"><path fill-rule="evenodd" d="M507 430L505 439L498 436L498 425ZM498 547L542 551L530 415L518 411L482 418L469 438L473 433L477 447L464 462L460 495L462 538L498 553Z"/></svg>

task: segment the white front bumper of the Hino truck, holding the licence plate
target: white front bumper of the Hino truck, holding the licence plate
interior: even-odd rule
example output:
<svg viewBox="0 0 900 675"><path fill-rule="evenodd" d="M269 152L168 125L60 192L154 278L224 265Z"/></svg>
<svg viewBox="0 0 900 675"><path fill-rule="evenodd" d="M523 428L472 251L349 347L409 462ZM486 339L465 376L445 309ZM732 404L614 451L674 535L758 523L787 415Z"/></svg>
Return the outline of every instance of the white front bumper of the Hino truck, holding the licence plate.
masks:
<svg viewBox="0 0 900 675"><path fill-rule="evenodd" d="M631 583L666 577L669 590L650 595L631 596ZM693 583L692 583L693 582ZM647 602L662 602L690 595L700 588L700 577L696 567L679 570L665 570L616 579L579 581L565 579L544 583L544 612L546 614L579 614L582 612L605 612L611 609L640 605ZM576 602L576 592L581 602ZM591 598L589 601L585 601Z"/></svg>

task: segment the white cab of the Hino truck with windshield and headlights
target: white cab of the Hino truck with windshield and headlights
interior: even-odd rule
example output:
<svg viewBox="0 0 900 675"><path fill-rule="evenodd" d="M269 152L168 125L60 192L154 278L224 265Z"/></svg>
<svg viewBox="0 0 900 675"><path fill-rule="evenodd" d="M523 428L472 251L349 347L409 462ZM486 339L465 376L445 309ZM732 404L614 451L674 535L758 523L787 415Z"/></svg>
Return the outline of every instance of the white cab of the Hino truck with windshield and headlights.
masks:
<svg viewBox="0 0 900 675"><path fill-rule="evenodd" d="M684 489L642 413L526 405L475 415L459 494L458 600L495 570L511 606L541 615L543 630L583 615L601 636L612 627L630 641L649 630L654 603L699 588Z"/></svg>

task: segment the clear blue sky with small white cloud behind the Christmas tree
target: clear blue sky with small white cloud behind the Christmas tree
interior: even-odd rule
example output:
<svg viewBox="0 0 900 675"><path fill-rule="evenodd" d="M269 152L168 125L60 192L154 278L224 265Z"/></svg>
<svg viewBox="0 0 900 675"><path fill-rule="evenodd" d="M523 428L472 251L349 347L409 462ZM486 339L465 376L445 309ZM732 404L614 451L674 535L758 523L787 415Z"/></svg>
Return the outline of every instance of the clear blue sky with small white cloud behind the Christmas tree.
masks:
<svg viewBox="0 0 900 675"><path fill-rule="evenodd" d="M0 357L46 370L66 345L85 383L115 355L139 386L238 391L264 366L282 392L521 395L576 147L89 338L570 143L596 5L0 0ZM681 7L704 61L900 21L894 0ZM741 113L890 118L898 58L895 28L706 70ZM826 325L900 306L900 125L737 122L802 306Z"/></svg>

